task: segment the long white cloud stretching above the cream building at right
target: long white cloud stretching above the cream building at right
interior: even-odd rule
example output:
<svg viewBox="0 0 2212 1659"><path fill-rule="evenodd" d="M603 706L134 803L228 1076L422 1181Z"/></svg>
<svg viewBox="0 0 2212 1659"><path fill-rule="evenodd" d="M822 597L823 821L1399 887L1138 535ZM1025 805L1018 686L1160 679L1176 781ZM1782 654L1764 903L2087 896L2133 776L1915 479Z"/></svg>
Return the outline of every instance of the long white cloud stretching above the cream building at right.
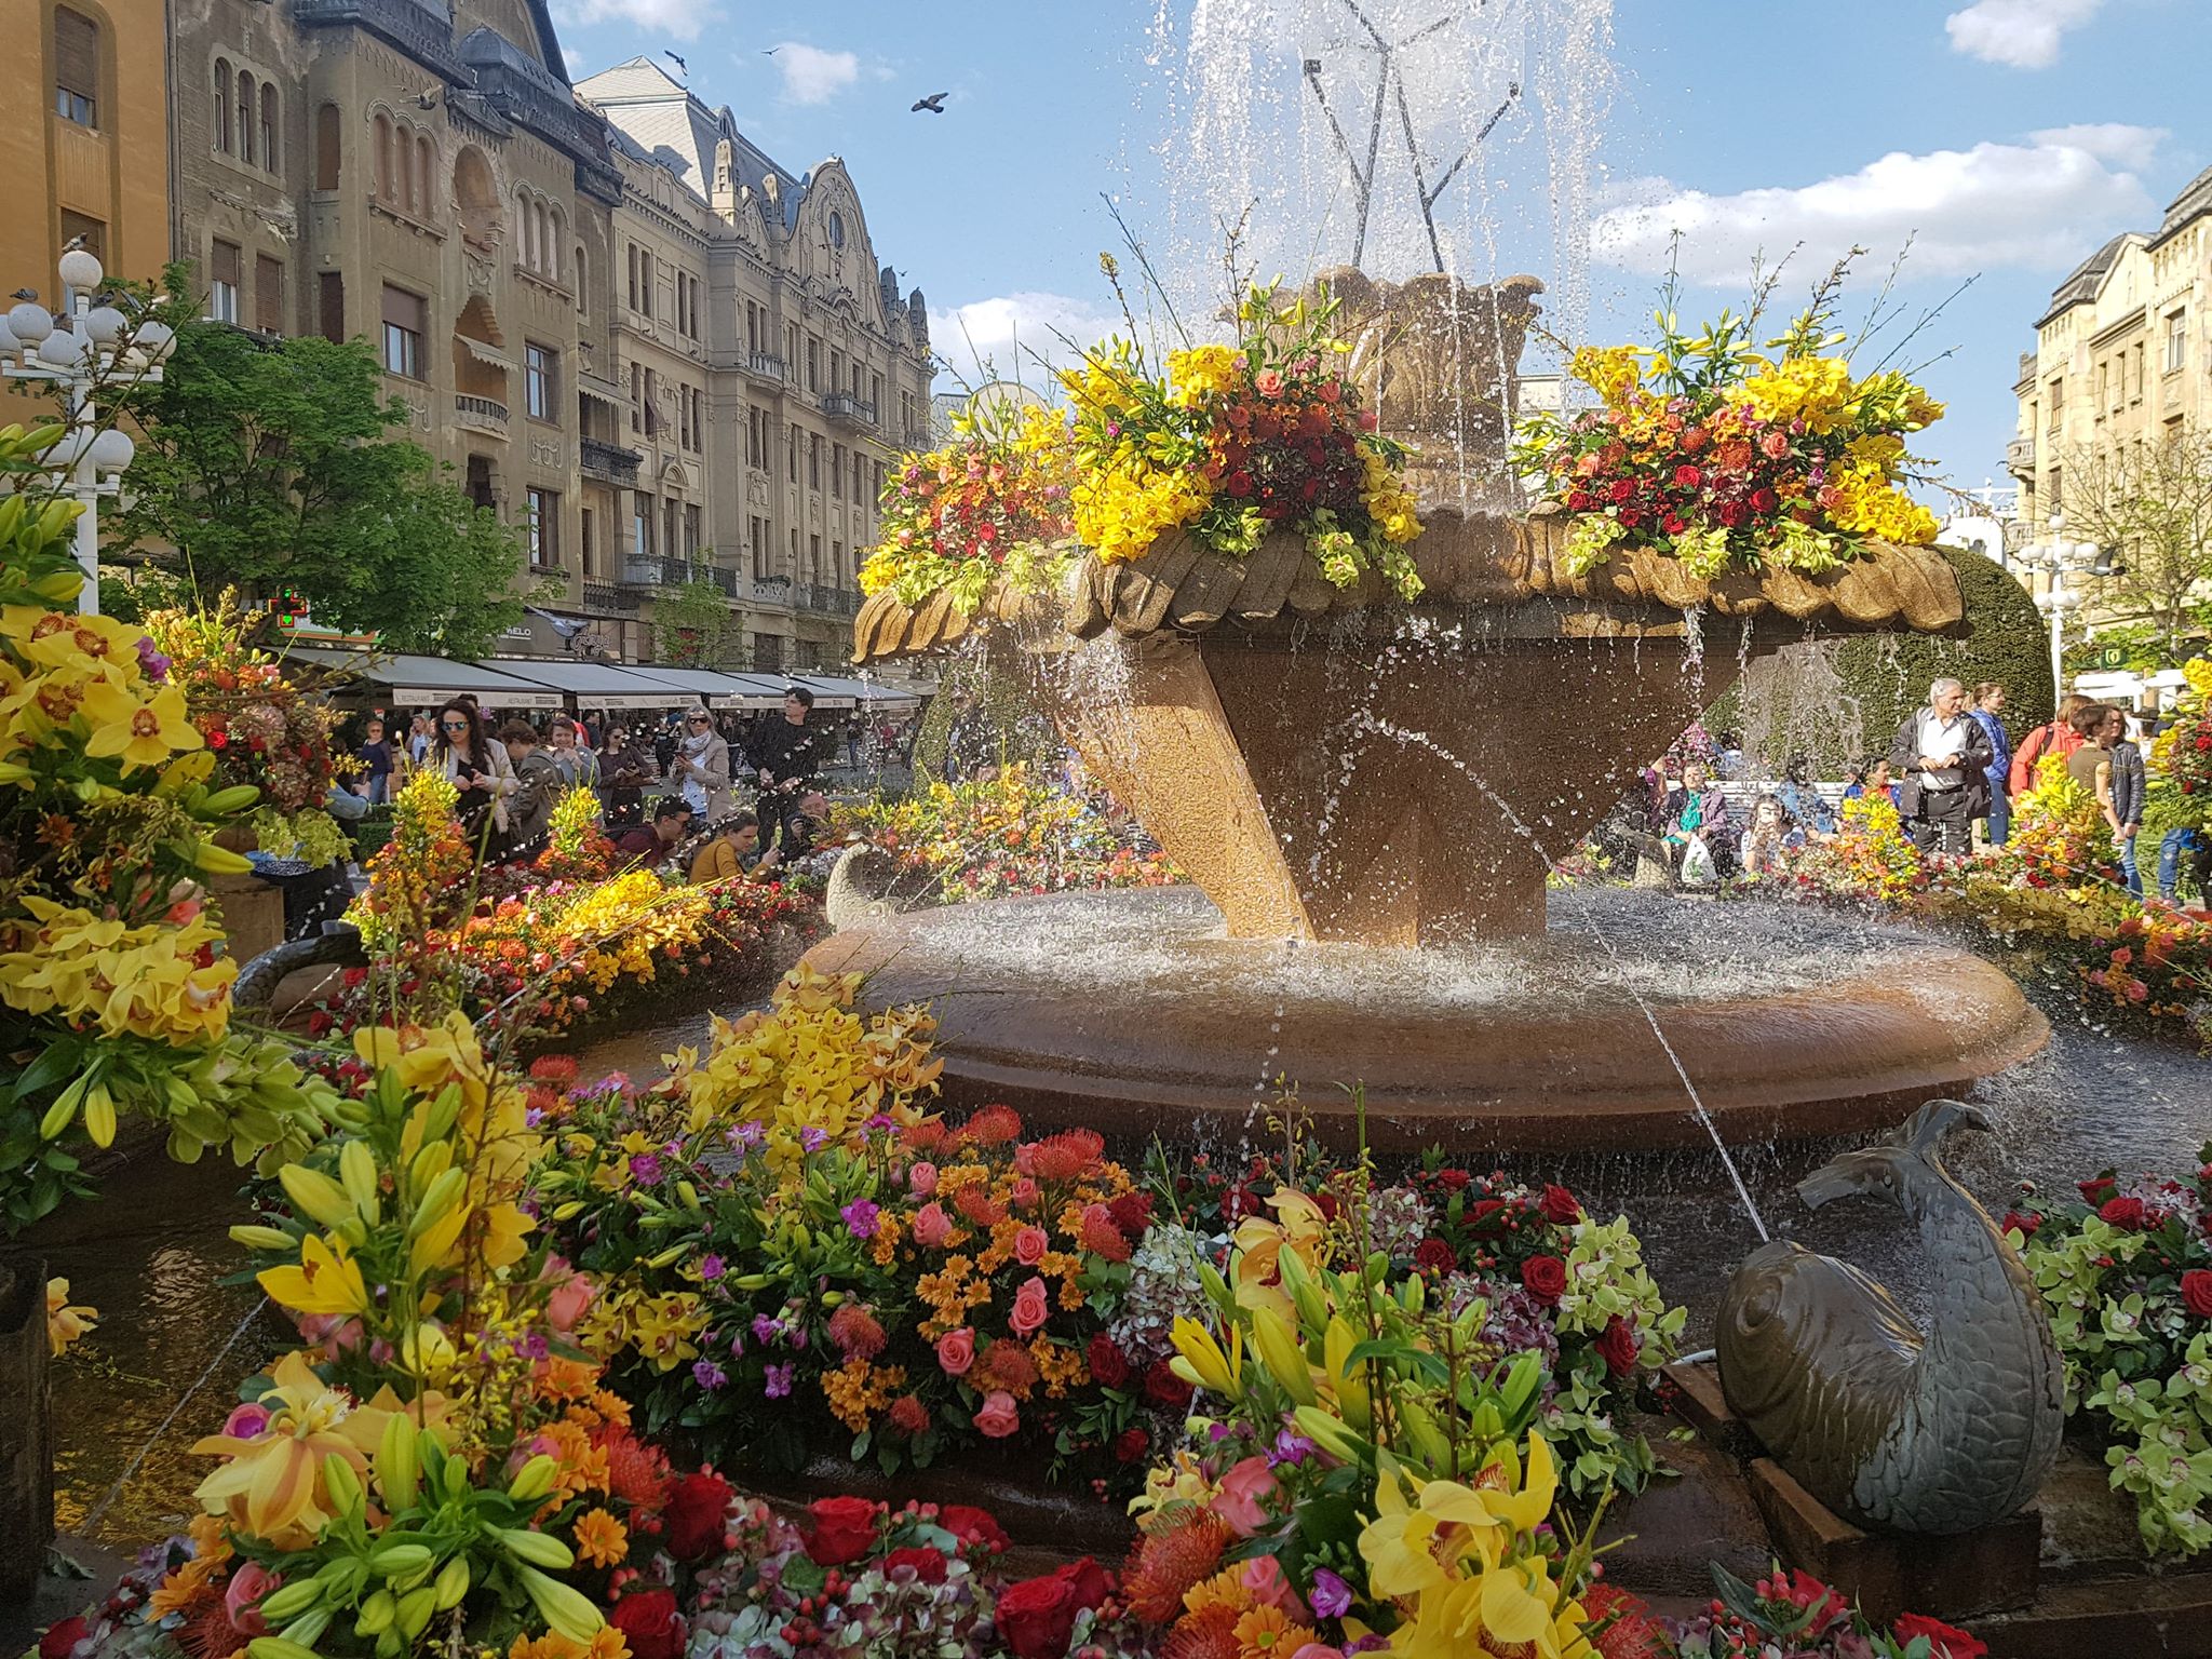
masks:
<svg viewBox="0 0 2212 1659"><path fill-rule="evenodd" d="M1739 283L1754 254L1772 265L1798 243L1807 272L1854 243L1887 259L1907 237L1918 276L2064 270L2115 230L2157 217L2128 168L2141 166L2159 137L2117 124L2055 128L2024 144L1893 153L1803 188L1717 197L1668 186L1663 197L1601 212L1590 248L1610 265L1663 272L1668 241L1681 230L1681 274L1697 283Z"/></svg>

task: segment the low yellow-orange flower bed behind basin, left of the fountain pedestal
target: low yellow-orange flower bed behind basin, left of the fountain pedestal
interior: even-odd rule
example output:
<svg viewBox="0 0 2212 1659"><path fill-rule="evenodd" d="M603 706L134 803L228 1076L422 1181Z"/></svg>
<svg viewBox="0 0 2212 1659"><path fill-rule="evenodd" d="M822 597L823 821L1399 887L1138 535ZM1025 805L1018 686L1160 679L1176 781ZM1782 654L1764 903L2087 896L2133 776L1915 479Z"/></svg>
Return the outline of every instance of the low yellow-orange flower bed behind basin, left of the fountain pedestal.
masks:
<svg viewBox="0 0 2212 1659"><path fill-rule="evenodd" d="M1130 847L1095 803L1024 765L989 781L931 783L896 801L838 803L830 827L889 852L945 905L1183 880L1166 854Z"/></svg>

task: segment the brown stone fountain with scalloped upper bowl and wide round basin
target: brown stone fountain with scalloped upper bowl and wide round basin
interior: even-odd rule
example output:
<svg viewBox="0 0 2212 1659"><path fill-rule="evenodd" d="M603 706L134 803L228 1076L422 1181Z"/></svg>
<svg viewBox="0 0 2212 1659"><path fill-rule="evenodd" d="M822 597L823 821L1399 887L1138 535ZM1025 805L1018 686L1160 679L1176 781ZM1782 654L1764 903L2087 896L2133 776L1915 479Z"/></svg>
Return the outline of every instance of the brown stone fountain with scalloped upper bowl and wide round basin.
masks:
<svg viewBox="0 0 2212 1659"><path fill-rule="evenodd" d="M1562 544L1559 518L1438 511L1413 606L1332 588L1292 538L1088 562L975 619L872 599L860 661L987 626L1199 891L925 911L810 960L933 1002L958 1102L1172 1139L1237 1139L1287 1084L1338 1144L1661 1148L1708 1133L1686 1079L1732 1141L1845 1135L2035 1053L2017 987L1924 936L1546 905L1548 858L1752 655L1958 628L1942 555L1708 584L1648 555L1571 575Z"/></svg>

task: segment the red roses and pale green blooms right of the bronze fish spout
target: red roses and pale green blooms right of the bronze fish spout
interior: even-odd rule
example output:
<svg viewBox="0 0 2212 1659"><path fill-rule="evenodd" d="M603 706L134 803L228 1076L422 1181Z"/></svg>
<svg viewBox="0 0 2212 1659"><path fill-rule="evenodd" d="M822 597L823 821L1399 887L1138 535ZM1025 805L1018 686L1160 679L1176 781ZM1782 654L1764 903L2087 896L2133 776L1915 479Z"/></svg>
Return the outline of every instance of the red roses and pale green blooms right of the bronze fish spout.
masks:
<svg viewBox="0 0 2212 1659"><path fill-rule="evenodd" d="M2066 1358L2066 1411L2104 1440L2143 1544L2212 1548L2212 1146L2183 1177L2104 1170L2064 1203L2024 1192L2004 1223Z"/></svg>

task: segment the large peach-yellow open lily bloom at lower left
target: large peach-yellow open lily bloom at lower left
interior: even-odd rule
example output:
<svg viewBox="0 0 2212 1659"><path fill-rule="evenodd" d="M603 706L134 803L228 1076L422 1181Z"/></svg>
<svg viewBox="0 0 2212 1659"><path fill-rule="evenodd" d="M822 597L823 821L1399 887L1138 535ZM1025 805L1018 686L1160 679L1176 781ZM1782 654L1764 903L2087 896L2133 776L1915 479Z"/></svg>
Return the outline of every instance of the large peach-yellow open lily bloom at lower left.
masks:
<svg viewBox="0 0 2212 1659"><path fill-rule="evenodd" d="M268 1411L259 1433L217 1433L192 1447L201 1458L228 1458L199 1482L195 1498L250 1537L303 1548L332 1522L323 1509L323 1460L338 1455L365 1471L387 1413L327 1387L305 1354L285 1354L272 1383L259 1400Z"/></svg>

